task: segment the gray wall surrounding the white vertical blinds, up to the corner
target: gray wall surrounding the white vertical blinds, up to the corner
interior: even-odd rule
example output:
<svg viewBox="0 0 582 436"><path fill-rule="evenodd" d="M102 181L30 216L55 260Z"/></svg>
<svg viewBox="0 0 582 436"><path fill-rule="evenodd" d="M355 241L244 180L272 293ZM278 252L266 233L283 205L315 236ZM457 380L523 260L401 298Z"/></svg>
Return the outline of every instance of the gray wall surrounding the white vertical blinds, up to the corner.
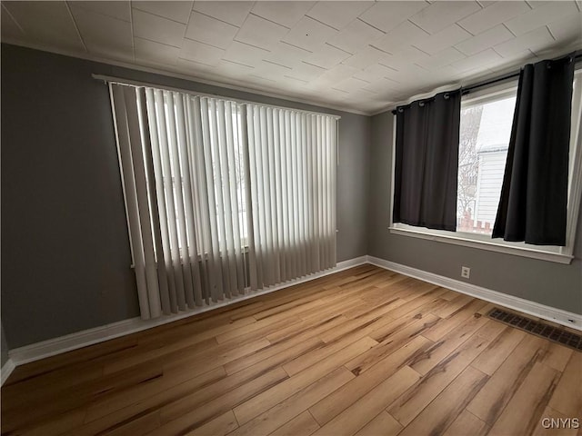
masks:
<svg viewBox="0 0 582 436"><path fill-rule="evenodd" d="M2 45L2 322L11 348L139 313L111 108L92 73L341 115L337 260L366 254L369 117Z"/></svg>

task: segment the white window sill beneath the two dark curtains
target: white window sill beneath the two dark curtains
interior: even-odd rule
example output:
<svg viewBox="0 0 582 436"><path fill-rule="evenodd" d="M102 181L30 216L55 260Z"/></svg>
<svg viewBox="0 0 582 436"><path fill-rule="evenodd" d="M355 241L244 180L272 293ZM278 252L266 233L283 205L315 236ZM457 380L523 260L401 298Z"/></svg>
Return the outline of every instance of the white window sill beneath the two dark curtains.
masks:
<svg viewBox="0 0 582 436"><path fill-rule="evenodd" d="M399 234L402 236L410 236L413 238L426 239L428 241L437 241L439 243L452 243L455 245L462 245L465 247L477 248L480 250L487 250L490 252L507 253L521 257L529 257L532 259L539 259L542 261L569 264L574 259L574 256L562 253L549 253L530 248L517 248L502 245L499 243L487 243L484 241L475 241L464 238L462 236L448 236L434 233L426 233L422 231L401 229L396 227L388 227L390 233Z"/></svg>

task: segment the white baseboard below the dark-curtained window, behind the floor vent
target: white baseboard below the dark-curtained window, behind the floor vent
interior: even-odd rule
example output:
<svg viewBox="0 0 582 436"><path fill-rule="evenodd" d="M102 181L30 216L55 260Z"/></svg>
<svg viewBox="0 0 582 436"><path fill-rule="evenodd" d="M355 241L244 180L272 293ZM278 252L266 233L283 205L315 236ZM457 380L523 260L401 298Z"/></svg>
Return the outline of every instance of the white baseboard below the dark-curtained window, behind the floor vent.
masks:
<svg viewBox="0 0 582 436"><path fill-rule="evenodd" d="M567 327L571 327L573 329L582 330L582 315L578 313L563 311L561 309L546 306L538 302L530 302L529 300L524 300L523 298L507 295L507 293L492 291L475 284L461 282L449 277L445 277L443 275L434 274L432 272L417 270L416 268L412 268L410 266L385 261L384 259L380 259L374 256L367 256L367 262L379 266L380 268L385 268L386 270L399 272L401 274L414 277L424 282L434 283L438 286L442 286L453 291L466 293L467 295L480 298L481 300L505 306L508 309L514 309L519 312L524 312L536 316L537 318L542 318L551 322L557 322L558 324L566 325Z"/></svg>

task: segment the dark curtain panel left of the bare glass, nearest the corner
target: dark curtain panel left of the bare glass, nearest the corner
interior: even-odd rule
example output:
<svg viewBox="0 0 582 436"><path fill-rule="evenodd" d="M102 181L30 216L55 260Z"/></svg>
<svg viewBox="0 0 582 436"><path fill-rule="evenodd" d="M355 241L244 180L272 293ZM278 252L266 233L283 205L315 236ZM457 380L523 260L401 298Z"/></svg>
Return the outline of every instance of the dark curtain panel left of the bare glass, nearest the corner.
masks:
<svg viewBox="0 0 582 436"><path fill-rule="evenodd" d="M396 109L395 223L457 229L460 90Z"/></svg>

